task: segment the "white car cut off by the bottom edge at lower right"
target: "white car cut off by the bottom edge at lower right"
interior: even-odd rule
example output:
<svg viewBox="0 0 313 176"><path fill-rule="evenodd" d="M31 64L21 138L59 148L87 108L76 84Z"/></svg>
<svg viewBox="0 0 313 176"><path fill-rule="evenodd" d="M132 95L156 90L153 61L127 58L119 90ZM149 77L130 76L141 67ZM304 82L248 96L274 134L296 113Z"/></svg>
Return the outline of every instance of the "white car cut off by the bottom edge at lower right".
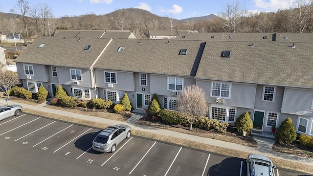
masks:
<svg viewBox="0 0 313 176"><path fill-rule="evenodd" d="M275 176L273 162L260 154L249 154L246 159L247 176Z"/></svg>

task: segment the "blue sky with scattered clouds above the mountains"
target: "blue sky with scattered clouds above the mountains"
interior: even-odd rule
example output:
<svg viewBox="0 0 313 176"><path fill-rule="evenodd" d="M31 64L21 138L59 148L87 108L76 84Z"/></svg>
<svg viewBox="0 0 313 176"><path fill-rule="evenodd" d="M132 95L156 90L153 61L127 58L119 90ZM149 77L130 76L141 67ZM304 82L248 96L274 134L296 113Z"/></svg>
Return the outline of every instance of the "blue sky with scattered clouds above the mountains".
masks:
<svg viewBox="0 0 313 176"><path fill-rule="evenodd" d="M3 0L0 0L3 1ZM17 0L11 3L0 3L0 12L9 13ZM252 12L276 12L286 9L294 0L239 0L246 9ZM185 19L209 14L219 15L226 4L236 0L28 0L29 6L40 3L52 9L54 17L80 16L90 13L104 15L123 8L140 8L157 16ZM11 4L11 5L10 5Z"/></svg>

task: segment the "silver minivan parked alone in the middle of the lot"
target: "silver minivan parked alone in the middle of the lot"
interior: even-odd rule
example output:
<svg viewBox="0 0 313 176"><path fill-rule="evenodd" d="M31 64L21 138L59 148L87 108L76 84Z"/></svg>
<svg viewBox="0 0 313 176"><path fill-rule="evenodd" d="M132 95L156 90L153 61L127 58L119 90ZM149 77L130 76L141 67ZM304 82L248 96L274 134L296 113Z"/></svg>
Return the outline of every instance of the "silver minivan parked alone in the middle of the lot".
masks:
<svg viewBox="0 0 313 176"><path fill-rule="evenodd" d="M131 136L131 127L115 125L102 130L92 141L92 149L98 152L115 152L116 146Z"/></svg>

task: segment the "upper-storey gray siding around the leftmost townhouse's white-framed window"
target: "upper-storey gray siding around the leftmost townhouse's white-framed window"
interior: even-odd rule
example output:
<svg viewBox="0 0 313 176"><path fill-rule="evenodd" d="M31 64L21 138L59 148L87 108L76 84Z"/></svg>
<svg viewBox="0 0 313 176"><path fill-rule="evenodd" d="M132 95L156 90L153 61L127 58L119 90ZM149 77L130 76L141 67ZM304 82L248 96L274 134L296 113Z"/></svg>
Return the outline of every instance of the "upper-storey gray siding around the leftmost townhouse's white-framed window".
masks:
<svg viewBox="0 0 313 176"><path fill-rule="evenodd" d="M46 66L43 65L34 65L34 64L26 64L33 66L34 76L31 76L32 81L38 82L49 82L49 71ZM23 64L16 63L16 68L18 70L18 74L20 79L26 79L26 75L24 73Z"/></svg>

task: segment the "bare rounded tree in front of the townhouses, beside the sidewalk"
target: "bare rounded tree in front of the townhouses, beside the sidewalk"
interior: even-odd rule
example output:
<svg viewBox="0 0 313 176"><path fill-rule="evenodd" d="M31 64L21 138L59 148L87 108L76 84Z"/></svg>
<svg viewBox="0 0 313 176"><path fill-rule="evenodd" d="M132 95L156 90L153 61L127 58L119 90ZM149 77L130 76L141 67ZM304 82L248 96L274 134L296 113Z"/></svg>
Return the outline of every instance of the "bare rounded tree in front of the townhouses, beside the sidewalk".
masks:
<svg viewBox="0 0 313 176"><path fill-rule="evenodd" d="M187 118L189 130L192 130L195 120L206 115L208 110L204 90L197 85L185 86L178 96L177 110Z"/></svg>

